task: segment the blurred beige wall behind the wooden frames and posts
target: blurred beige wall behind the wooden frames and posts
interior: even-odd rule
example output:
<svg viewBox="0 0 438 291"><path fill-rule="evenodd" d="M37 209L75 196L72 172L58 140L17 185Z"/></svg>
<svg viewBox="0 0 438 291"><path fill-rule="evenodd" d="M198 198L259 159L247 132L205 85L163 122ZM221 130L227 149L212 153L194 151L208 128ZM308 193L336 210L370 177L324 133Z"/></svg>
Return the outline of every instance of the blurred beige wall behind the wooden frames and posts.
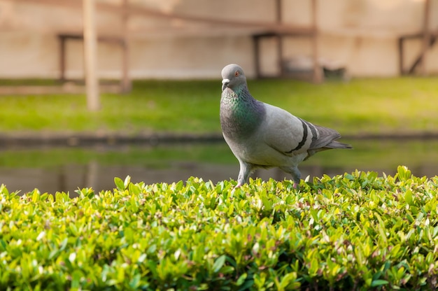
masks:
<svg viewBox="0 0 438 291"><path fill-rule="evenodd" d="M118 5L122 0L99 0ZM59 1L61 2L61 1ZM79 1L80 2L80 1ZM438 0L432 0L430 27L438 29ZM130 0L133 6L164 13L221 20L274 22L275 0ZM310 0L283 0L283 22L311 24ZM397 37L421 31L424 0L319 0L319 57L325 64L348 69L351 76L397 76ZM0 0L0 78L56 78L59 74L57 34L80 33L78 8L40 1ZM98 11L99 35L121 36L122 17ZM237 24L222 25L181 19L132 15L128 22L129 67L133 78L220 78L225 64L241 64L254 76L251 34L260 31ZM276 43L262 43L262 69L275 71ZM414 62L421 41L407 43L405 60ZM83 77L80 41L67 43L67 77ZM285 38L286 59L306 59L306 38ZM429 51L427 69L438 73L438 44ZM117 45L99 43L99 75L118 78L122 54Z"/></svg>

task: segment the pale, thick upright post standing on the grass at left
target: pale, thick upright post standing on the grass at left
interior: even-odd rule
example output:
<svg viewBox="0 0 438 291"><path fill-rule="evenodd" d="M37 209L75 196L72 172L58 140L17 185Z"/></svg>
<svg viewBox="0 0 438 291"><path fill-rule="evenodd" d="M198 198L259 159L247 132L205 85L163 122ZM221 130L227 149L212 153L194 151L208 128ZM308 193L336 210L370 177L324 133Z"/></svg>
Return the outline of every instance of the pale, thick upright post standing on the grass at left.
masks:
<svg viewBox="0 0 438 291"><path fill-rule="evenodd" d="M100 108L99 80L96 73L97 37L95 16L95 1L83 0L85 87L87 91L87 108L90 111L98 111Z"/></svg>

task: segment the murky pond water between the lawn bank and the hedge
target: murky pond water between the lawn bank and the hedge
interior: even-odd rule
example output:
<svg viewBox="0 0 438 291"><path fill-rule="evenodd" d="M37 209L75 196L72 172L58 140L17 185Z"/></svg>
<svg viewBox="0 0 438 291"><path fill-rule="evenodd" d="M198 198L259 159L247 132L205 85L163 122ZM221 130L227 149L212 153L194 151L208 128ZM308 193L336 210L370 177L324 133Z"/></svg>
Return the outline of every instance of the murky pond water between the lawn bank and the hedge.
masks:
<svg viewBox="0 0 438 291"><path fill-rule="evenodd" d="M408 166L415 176L438 174L438 140L372 139L345 140L353 150L320 152L300 164L302 178L359 171L394 175L398 165ZM217 183L236 179L239 164L225 141L212 143L173 143L150 146L97 145L78 147L2 148L0 184L10 192L70 192L78 187L95 191L112 190L114 177L132 182L172 183L197 176ZM290 179L279 169L257 170L253 177L264 180Z"/></svg>

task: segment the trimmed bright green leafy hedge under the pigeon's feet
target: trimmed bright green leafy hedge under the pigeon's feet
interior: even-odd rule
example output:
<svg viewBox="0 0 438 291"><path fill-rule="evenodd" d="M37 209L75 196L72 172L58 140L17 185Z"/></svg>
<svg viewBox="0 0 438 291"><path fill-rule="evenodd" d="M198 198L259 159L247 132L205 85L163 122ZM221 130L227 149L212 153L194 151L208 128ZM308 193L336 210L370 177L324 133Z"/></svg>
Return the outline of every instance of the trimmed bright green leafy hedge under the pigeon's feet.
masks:
<svg viewBox="0 0 438 291"><path fill-rule="evenodd" d="M0 289L435 290L438 178L0 187Z"/></svg>

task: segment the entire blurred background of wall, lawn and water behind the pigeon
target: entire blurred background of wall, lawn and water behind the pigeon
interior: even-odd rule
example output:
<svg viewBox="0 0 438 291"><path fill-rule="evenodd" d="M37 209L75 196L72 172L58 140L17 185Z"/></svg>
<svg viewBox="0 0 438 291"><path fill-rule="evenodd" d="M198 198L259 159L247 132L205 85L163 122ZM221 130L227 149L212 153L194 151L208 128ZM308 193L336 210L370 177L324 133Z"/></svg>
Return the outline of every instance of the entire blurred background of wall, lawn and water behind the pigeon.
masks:
<svg viewBox="0 0 438 291"><path fill-rule="evenodd" d="M303 177L435 176L437 37L438 0L0 0L0 183L235 179L218 120L229 63L257 99L353 144Z"/></svg>

